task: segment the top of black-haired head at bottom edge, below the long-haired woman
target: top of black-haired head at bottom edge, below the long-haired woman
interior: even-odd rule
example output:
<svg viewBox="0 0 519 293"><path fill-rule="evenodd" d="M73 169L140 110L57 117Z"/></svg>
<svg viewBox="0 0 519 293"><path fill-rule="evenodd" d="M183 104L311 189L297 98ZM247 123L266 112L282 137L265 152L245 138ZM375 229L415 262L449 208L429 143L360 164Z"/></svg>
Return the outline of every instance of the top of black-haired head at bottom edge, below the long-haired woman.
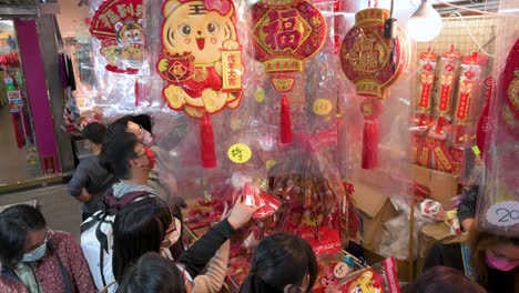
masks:
<svg viewBox="0 0 519 293"><path fill-rule="evenodd" d="M156 252L147 252L128 270L116 293L185 293L184 282L173 262Z"/></svg>

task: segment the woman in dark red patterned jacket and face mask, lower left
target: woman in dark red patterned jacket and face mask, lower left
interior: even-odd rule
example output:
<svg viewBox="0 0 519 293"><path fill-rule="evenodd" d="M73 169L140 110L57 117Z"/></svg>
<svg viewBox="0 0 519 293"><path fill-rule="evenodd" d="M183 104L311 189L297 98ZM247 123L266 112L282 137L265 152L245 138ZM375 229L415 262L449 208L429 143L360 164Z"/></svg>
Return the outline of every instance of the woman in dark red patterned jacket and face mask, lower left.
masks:
<svg viewBox="0 0 519 293"><path fill-rule="evenodd" d="M0 292L95 292L78 242L30 205L0 213Z"/></svg>

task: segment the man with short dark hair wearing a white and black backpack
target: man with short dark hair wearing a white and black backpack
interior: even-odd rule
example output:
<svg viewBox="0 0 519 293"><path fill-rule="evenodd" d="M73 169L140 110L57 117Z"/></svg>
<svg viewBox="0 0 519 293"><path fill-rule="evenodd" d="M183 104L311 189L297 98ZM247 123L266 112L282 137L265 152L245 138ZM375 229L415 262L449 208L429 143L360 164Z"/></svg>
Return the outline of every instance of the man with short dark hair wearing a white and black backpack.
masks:
<svg viewBox="0 0 519 293"><path fill-rule="evenodd" d="M129 132L128 121L108 127L100 162L118 180L102 196L102 210L81 224L81 247L98 290L114 282L112 272L113 221L128 204L150 196L160 196L147 185L155 164L153 151ZM113 290L109 290L113 292Z"/></svg>

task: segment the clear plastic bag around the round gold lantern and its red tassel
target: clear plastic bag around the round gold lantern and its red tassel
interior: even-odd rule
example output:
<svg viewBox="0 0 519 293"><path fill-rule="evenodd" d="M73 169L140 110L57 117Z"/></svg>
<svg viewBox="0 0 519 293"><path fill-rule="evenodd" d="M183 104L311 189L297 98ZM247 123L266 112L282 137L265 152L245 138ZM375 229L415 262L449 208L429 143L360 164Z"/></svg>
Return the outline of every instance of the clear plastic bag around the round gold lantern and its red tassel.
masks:
<svg viewBox="0 0 519 293"><path fill-rule="evenodd" d="M383 7L384 8L384 7ZM395 11L396 12L396 11ZM405 12L405 11L404 11ZM396 12L398 13L398 12ZM355 23L355 14L347 16L346 28ZM407 17L405 13L396 16L398 24L405 28ZM349 24L349 26L348 26ZM344 36L343 36L344 38ZM408 46L413 46L409 43ZM340 98L344 105L340 108L342 132L340 142L345 143L342 150L346 156L342 162L342 174L347 182L364 184L384 190L385 195L406 199L409 180L409 113L414 101L411 85L415 83L415 64L410 63L400 75L400 79L389 88L389 94L380 100L383 110L377 119L378 124L378 165L376 169L360 168L363 152L364 118L360 104L365 97L355 92L355 87L340 74Z"/></svg>

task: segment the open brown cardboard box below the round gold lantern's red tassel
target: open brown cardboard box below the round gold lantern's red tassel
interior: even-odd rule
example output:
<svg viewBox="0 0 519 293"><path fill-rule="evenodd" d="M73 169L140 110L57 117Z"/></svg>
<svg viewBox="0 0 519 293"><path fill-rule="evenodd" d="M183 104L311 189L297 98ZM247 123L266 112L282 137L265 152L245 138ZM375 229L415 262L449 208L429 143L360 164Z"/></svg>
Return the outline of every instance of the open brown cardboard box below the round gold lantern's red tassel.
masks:
<svg viewBox="0 0 519 293"><path fill-rule="evenodd" d="M356 206L363 213L363 244L376 251L380 244L384 223L398 215L389 198L381 191L354 182Z"/></svg>

